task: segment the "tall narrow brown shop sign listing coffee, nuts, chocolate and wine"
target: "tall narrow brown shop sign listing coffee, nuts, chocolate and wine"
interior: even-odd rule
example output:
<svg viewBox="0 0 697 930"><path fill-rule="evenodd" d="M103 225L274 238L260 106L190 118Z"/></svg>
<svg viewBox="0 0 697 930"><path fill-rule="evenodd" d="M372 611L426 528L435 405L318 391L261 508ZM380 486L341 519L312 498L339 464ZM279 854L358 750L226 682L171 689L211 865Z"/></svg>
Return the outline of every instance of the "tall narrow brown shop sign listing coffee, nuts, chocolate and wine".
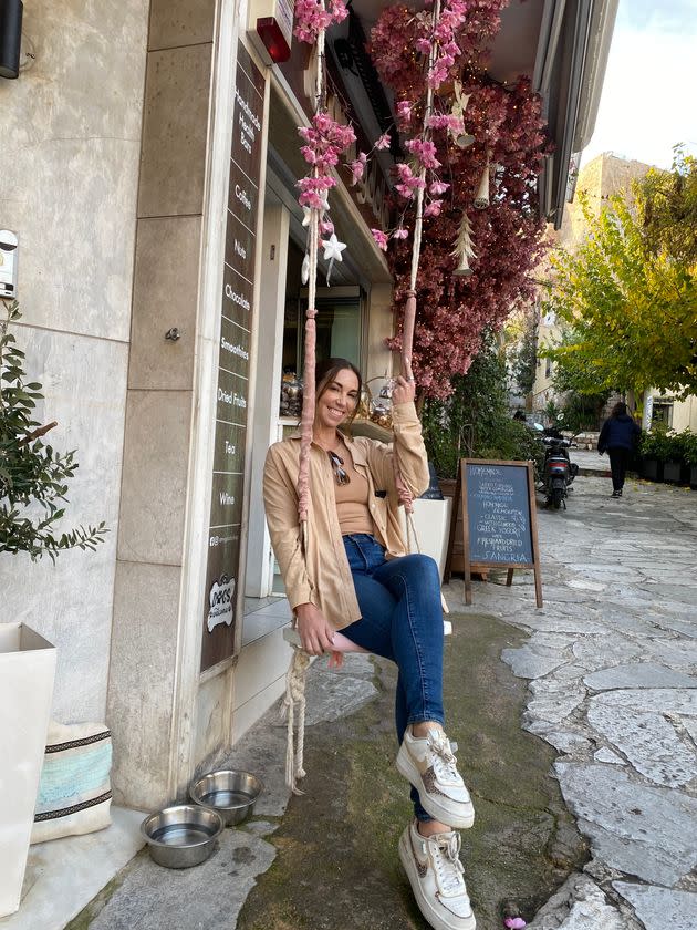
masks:
<svg viewBox="0 0 697 930"><path fill-rule="evenodd" d="M241 43L237 50L235 84L201 671L232 655L238 620L249 347L254 306L264 100L264 78Z"/></svg>

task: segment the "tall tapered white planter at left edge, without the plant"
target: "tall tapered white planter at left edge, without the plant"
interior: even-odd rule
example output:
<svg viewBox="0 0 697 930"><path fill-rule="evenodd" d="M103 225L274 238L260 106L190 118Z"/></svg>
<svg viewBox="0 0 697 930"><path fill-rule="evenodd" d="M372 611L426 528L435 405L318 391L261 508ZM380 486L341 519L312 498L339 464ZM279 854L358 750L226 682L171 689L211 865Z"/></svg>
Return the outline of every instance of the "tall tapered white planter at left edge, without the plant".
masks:
<svg viewBox="0 0 697 930"><path fill-rule="evenodd" d="M20 906L54 674L54 645L0 623L0 917Z"/></svg>

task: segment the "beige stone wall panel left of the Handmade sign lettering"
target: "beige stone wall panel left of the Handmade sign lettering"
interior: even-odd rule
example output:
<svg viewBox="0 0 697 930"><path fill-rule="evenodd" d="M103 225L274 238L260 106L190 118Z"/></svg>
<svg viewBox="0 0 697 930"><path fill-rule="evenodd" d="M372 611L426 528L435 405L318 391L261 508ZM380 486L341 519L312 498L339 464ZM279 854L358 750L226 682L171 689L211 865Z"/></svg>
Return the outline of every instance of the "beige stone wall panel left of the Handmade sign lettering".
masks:
<svg viewBox="0 0 697 930"><path fill-rule="evenodd" d="M138 216L200 214L212 44L147 59Z"/></svg>

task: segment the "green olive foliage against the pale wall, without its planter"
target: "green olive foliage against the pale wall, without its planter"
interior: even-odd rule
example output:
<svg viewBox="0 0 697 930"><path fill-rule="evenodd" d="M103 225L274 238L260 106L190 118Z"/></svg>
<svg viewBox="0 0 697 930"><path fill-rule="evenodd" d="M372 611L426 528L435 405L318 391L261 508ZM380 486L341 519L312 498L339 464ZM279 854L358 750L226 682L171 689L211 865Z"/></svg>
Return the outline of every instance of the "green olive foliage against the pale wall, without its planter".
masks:
<svg viewBox="0 0 697 930"><path fill-rule="evenodd" d="M107 533L104 523L58 534L67 484L77 468L74 452L59 453L44 436L55 423L33 418L41 384L28 382L24 353L10 332L20 318L17 301L6 303L0 322L0 552L28 552L33 560L63 549L94 549Z"/></svg>

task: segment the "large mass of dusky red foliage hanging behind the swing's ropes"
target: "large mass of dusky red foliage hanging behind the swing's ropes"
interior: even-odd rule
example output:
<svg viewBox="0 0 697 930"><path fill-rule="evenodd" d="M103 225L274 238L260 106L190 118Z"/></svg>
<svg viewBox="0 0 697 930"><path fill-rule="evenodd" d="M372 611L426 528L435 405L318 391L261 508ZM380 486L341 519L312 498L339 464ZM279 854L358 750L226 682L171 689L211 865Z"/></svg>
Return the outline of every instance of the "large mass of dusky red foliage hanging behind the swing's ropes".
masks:
<svg viewBox="0 0 697 930"><path fill-rule="evenodd" d="M446 163L447 159L449 176L438 178L435 172L427 172L427 193L433 199L440 199L446 192L435 185L446 180L451 184L447 188L448 209L444 204L439 216L431 216L424 224L418 269L414 368L419 389L427 397L446 399L452 391L451 375L467 372L481 347L482 332L498 330L512 306L534 299L531 271L545 249L544 224L535 209L537 177L542 158L549 152L540 97L532 92L529 79L507 86L479 79L486 71L488 50L498 32L504 6L504 0L467 0L467 14L455 33L462 55L448 78L460 79L465 85L466 105L459 111L467 111L464 122L475 136L475 144L466 152L464 146L451 144L449 136L454 142L460 130L458 107L448 112L449 104L436 97L434 110L428 114L429 138L436 144L438 161ZM451 3L444 2L444 13L448 8L455 10ZM455 12L460 13L461 8ZM433 31L426 12L415 11L400 2L386 7L371 32L373 61L383 83L398 101L397 126L406 137L420 136L423 132L420 126L417 130L416 121L420 122L424 114L420 101L426 66L415 65L414 58L417 39ZM458 70L462 60L468 64L465 72ZM499 166L497 196L488 210L472 211L472 198L488 148L491 149L491 163ZM409 161L409 175L416 173L417 176L416 159L410 153ZM396 194L405 196L405 199L400 198L403 209L410 210L415 188L400 175L397 184L402 189ZM454 277L457 259L451 255L452 244L468 214L477 265L471 277ZM412 244L398 235L402 220L397 227L391 236L387 258L395 278L394 302L402 308L409 291ZM389 340L388 344L398 351L402 335Z"/></svg>

